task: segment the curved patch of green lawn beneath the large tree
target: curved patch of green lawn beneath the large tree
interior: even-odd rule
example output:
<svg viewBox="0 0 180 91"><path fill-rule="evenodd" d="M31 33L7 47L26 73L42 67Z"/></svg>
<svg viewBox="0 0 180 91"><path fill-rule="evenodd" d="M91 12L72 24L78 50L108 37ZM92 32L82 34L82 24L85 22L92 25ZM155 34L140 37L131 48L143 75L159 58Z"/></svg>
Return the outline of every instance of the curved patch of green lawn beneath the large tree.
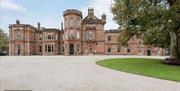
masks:
<svg viewBox="0 0 180 91"><path fill-rule="evenodd" d="M127 73L180 82L180 66L162 64L158 59L116 58L101 60L96 64Z"/></svg>

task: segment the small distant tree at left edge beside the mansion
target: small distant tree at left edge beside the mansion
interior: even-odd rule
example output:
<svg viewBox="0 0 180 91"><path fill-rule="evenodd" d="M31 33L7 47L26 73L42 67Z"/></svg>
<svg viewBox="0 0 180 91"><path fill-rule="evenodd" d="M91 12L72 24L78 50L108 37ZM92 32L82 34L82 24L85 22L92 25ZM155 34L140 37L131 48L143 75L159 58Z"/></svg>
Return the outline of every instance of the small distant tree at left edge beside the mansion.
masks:
<svg viewBox="0 0 180 91"><path fill-rule="evenodd" d="M8 36L2 29L0 29L0 53L5 51L5 47L8 45Z"/></svg>

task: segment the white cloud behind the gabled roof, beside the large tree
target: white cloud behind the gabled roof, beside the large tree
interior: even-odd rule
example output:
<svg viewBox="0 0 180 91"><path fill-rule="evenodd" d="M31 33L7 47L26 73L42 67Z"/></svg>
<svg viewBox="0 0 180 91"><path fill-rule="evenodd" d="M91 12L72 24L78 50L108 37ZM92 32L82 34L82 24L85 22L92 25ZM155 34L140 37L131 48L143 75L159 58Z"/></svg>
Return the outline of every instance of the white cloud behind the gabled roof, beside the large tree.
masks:
<svg viewBox="0 0 180 91"><path fill-rule="evenodd" d="M88 7L82 9L83 15L87 15L88 8L94 8L95 15L101 17L103 13L107 15L107 23L105 29L117 29L119 27L113 21L113 14L111 13L111 6L114 3L114 0L90 0Z"/></svg>

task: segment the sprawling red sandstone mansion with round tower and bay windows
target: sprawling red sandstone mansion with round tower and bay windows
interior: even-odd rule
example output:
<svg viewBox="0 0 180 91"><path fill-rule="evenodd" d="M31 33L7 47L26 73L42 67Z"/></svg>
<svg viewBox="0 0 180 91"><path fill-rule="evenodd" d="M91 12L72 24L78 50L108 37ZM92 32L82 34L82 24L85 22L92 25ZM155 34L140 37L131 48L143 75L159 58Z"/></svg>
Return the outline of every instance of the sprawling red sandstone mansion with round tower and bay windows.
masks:
<svg viewBox="0 0 180 91"><path fill-rule="evenodd" d="M94 15L88 9L82 12L67 9L63 13L61 29L37 27L30 24L9 25L9 55L165 55L162 48L143 44L143 40L132 37L128 46L118 45L119 29L105 30L106 15Z"/></svg>

